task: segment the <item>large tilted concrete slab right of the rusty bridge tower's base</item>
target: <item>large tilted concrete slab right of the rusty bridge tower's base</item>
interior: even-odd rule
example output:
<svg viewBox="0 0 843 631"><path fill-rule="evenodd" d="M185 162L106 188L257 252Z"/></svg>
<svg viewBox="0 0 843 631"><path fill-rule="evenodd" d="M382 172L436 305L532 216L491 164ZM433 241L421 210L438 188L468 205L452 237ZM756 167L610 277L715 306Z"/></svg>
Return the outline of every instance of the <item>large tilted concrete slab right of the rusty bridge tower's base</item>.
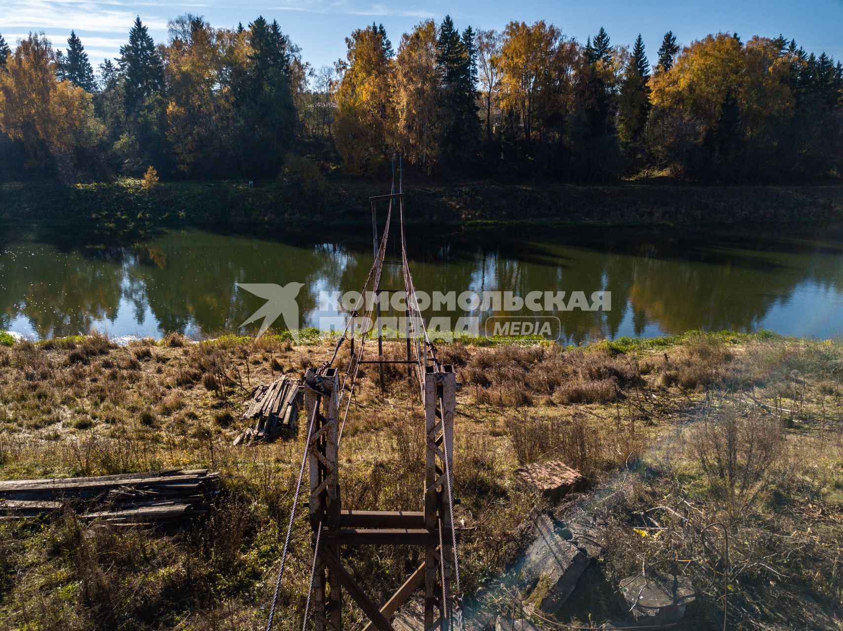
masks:
<svg viewBox="0 0 843 631"><path fill-rule="evenodd" d="M556 613L588 565L588 557L561 536L550 516L539 516L538 534L515 567L518 589L527 602Z"/></svg>

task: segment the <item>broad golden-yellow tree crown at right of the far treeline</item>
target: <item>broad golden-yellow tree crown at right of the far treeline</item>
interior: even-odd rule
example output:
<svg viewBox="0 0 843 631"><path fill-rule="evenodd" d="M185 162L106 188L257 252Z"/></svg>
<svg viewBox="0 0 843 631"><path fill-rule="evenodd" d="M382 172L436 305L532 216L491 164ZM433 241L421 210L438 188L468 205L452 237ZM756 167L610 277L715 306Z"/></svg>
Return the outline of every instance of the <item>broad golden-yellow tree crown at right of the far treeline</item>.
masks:
<svg viewBox="0 0 843 631"><path fill-rule="evenodd" d="M774 40L720 33L695 41L650 80L652 147L677 174L764 179L799 154L793 59Z"/></svg>

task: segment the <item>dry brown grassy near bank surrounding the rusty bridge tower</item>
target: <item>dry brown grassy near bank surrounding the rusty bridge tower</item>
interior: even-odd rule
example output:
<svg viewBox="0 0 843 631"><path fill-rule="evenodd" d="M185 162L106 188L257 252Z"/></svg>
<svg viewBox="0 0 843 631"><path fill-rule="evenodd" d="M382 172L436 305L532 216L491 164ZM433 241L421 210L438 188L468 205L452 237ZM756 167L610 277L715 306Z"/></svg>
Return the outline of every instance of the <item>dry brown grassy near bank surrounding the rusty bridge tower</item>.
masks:
<svg viewBox="0 0 843 631"><path fill-rule="evenodd" d="M86 528L70 514L0 521L0 627L260 625L303 432L255 447L231 441L250 388L325 360L328 345L312 341L170 335L117 347L93 336L0 346L0 478L210 467L223 485L208 521L190 532ZM400 344L387 352L400 355ZM575 595L580 607L572 602L562 623L588 622L583 602L594 621L617 616L613 589L643 567L689 575L698 597L685 628L711 628L725 568L719 539L704 543L700 533L723 521L729 628L839 628L843 346L722 333L440 352L464 383L455 475L467 591L515 558L518 527L540 503L515 468L561 459L589 488L622 480L617 501L599 509L609 521L605 580L588 598ZM384 397L376 372L362 378L342 443L344 501L414 509L418 401L399 370ZM408 572L385 549L347 561L374 595ZM300 628L309 563L301 515L278 628Z"/></svg>

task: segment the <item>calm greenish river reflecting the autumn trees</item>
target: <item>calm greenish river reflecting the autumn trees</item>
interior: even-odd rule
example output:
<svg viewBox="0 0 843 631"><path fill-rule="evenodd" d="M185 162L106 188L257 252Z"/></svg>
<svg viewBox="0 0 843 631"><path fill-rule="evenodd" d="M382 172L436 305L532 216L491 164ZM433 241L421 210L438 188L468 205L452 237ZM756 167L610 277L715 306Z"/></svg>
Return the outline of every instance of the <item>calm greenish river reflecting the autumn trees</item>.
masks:
<svg viewBox="0 0 843 631"><path fill-rule="evenodd" d="M410 233L419 291L521 297L608 291L608 309L540 314L559 318L553 337L568 344L689 329L843 335L840 224L413 226ZM322 292L359 290L372 256L370 228L190 227L126 244L62 225L6 226L0 233L0 329L30 338L92 329L113 337L179 331L201 338L238 330L264 303L237 283L293 281L303 283L299 325L319 326L320 318L338 315L320 300ZM381 286L401 287L399 274L400 266L388 265ZM477 317L481 332L489 330L488 318L501 315L459 306L440 314Z"/></svg>

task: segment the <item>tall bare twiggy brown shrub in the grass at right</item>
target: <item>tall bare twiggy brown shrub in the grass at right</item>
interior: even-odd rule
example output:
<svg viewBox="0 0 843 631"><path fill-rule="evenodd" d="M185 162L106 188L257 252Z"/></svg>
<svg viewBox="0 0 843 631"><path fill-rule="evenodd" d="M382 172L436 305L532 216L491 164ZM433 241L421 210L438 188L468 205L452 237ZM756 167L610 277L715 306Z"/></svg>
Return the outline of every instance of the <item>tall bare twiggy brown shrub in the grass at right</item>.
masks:
<svg viewBox="0 0 843 631"><path fill-rule="evenodd" d="M776 478L784 433L781 421L768 414L730 407L705 420L693 446L713 495L737 515Z"/></svg>

